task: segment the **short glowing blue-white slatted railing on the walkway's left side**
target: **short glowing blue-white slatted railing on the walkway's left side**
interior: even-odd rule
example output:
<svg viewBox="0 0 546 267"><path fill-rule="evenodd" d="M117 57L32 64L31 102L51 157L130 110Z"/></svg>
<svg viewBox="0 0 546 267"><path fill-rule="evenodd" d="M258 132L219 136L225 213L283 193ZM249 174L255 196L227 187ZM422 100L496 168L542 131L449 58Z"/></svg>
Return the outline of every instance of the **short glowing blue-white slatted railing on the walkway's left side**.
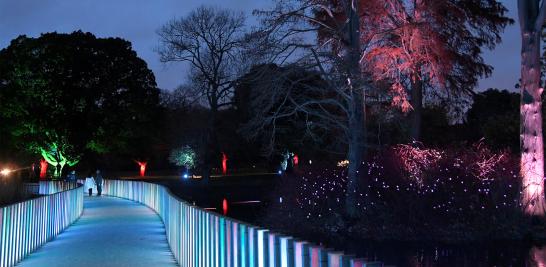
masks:
<svg viewBox="0 0 546 267"><path fill-rule="evenodd" d="M53 183L40 186L48 188L44 192L63 188ZM66 191L0 208L0 267L15 265L62 232L82 211L83 187L75 184Z"/></svg>

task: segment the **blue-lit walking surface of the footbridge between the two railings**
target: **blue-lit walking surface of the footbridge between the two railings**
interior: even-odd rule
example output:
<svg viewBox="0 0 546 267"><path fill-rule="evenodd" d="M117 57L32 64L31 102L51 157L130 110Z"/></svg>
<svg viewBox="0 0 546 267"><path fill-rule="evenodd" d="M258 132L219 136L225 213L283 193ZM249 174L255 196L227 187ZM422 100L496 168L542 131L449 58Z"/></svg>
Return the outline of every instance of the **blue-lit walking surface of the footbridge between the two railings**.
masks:
<svg viewBox="0 0 546 267"><path fill-rule="evenodd" d="M176 266L165 228L150 208L85 197L82 217L17 266Z"/></svg>

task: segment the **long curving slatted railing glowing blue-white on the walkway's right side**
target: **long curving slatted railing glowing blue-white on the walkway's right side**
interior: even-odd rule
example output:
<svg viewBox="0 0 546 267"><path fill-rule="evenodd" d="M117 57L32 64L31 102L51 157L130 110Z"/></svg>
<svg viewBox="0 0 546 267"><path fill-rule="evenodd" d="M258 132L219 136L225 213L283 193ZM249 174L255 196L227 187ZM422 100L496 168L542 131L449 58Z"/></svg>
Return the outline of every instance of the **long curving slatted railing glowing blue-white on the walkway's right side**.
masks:
<svg viewBox="0 0 546 267"><path fill-rule="evenodd" d="M105 180L104 193L155 210L181 266L383 266L205 211L161 185Z"/></svg>

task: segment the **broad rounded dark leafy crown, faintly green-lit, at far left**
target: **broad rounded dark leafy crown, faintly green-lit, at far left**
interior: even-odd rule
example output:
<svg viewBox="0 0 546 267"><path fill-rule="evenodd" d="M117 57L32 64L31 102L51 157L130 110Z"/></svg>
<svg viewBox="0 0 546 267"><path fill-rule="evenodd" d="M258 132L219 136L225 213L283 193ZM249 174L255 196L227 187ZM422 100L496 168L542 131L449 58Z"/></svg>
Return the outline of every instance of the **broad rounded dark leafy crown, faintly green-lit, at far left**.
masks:
<svg viewBox="0 0 546 267"><path fill-rule="evenodd" d="M19 36L0 61L0 117L17 148L57 146L69 158L145 150L159 92L129 42L83 32Z"/></svg>

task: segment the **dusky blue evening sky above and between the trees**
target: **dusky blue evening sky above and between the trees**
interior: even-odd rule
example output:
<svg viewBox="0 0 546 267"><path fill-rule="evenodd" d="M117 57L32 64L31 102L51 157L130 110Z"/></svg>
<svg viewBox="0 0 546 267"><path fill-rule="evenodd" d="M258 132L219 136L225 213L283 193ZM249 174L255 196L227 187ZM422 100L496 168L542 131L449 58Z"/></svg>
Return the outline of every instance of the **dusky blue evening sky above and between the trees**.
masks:
<svg viewBox="0 0 546 267"><path fill-rule="evenodd" d="M186 15L201 4L229 7L248 14L249 25L254 9L264 9L272 0L0 0L0 49L25 34L37 37L43 32L91 32L98 37L121 37L129 40L138 55L148 62L158 86L173 89L186 78L184 63L163 64L154 52L158 46L156 30L168 20ZM517 19L516 1L503 1ZM516 20L517 21L517 20ZM520 76L519 26L505 29L503 43L484 53L486 63L495 70L479 89L490 87L513 89Z"/></svg>

